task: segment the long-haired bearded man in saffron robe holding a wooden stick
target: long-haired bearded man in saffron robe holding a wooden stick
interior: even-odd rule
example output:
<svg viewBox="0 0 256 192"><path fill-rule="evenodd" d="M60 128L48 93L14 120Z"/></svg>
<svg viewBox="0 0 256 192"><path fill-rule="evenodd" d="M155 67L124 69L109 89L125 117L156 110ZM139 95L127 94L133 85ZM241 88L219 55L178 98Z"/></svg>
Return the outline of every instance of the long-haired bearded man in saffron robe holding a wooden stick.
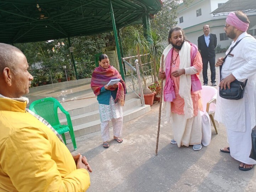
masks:
<svg viewBox="0 0 256 192"><path fill-rule="evenodd" d="M180 27L172 27L165 48L163 80L163 111L167 121L172 120L174 138L172 144L193 145L202 148L202 121L199 110L202 106L200 90L191 91L191 76L202 71L202 60L197 46L188 42ZM201 87L201 83L199 81ZM201 109L202 110L202 109Z"/></svg>

